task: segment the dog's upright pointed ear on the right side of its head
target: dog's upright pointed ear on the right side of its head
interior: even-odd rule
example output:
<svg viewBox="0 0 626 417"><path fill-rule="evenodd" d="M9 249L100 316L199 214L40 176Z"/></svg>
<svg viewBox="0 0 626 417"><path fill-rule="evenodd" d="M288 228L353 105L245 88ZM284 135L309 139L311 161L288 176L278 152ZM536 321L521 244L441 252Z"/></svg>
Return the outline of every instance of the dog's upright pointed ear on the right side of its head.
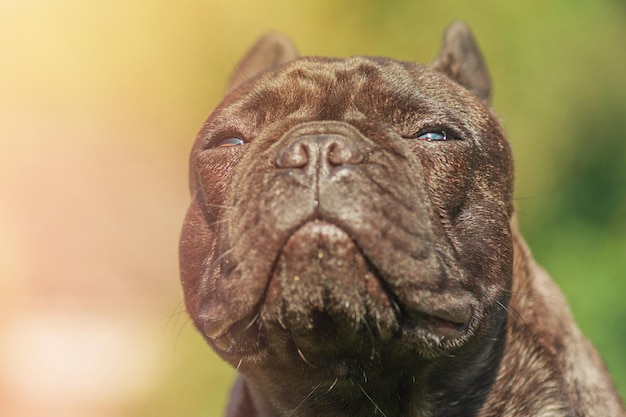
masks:
<svg viewBox="0 0 626 417"><path fill-rule="evenodd" d="M463 22L452 23L443 35L443 43L434 69L489 103L491 82L487 66L470 28Z"/></svg>

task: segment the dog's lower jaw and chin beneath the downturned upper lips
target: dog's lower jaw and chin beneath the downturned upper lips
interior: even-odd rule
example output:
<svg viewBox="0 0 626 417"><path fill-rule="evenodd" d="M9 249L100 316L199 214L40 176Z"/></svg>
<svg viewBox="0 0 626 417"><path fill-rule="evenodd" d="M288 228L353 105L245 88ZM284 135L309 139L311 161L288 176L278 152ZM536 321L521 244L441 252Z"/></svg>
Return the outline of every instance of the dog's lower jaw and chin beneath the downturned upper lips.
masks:
<svg viewBox="0 0 626 417"><path fill-rule="evenodd" d="M348 231L311 220L286 239L250 314L212 339L228 353L258 349L264 333L278 332L301 355L301 349L330 356L359 350L373 357L376 346L407 333L429 348L454 343L472 316L471 303L450 294L390 283Z"/></svg>

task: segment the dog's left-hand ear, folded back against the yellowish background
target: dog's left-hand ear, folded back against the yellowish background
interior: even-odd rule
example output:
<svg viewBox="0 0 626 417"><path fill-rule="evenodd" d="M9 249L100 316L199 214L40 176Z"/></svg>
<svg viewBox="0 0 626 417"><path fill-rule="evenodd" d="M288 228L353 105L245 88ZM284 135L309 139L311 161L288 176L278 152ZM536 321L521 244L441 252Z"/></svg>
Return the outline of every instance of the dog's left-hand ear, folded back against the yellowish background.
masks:
<svg viewBox="0 0 626 417"><path fill-rule="evenodd" d="M287 37L280 33L265 34L239 61L235 72L230 77L226 94L259 73L297 57L298 51Z"/></svg>

